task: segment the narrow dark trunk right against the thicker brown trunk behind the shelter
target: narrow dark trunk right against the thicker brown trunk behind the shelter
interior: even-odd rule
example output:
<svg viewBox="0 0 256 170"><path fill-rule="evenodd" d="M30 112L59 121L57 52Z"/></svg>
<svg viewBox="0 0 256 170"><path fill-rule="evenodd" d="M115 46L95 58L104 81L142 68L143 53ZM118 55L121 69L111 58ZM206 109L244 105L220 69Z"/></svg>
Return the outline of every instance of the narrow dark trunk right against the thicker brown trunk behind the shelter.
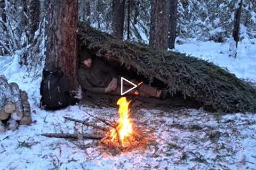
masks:
<svg viewBox="0 0 256 170"><path fill-rule="evenodd" d="M168 21L168 47L175 47L176 27L177 27L177 7L178 0L167 0Z"/></svg>

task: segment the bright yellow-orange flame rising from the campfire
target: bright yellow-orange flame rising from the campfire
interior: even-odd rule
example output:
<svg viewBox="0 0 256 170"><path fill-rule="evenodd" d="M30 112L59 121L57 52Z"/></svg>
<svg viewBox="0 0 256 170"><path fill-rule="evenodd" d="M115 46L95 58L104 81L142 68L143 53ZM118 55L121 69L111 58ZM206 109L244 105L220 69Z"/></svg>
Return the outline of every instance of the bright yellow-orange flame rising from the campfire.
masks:
<svg viewBox="0 0 256 170"><path fill-rule="evenodd" d="M118 109L119 120L117 121L117 127L112 128L110 130L111 141L114 142L115 140L118 140L119 142L121 142L121 145L123 147L128 142L127 139L129 137L131 137L131 135L133 134L132 123L131 123L131 120L129 118L129 116L130 116L130 109L129 109L130 103L131 103L131 100L127 101L126 97L121 97L117 101L117 105L119 105L119 109Z"/></svg>

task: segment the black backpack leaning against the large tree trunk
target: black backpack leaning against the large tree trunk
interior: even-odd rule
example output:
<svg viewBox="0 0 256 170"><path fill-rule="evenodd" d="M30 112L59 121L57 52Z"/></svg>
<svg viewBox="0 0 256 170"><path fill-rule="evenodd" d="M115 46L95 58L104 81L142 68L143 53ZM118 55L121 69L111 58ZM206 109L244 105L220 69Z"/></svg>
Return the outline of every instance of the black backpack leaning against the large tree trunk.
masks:
<svg viewBox="0 0 256 170"><path fill-rule="evenodd" d="M57 110L75 105L78 100L69 94L68 78L60 69L43 70L40 94L42 96L41 107L46 110Z"/></svg>

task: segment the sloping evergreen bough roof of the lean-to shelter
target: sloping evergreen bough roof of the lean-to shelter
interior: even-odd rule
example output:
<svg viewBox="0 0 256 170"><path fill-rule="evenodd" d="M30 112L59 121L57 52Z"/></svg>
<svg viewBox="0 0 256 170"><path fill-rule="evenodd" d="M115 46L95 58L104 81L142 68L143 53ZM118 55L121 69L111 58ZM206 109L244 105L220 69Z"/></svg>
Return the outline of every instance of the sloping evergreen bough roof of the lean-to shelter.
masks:
<svg viewBox="0 0 256 170"><path fill-rule="evenodd" d="M149 81L160 80L171 95L198 101L212 112L256 112L256 90L221 67L177 52L121 41L89 26L79 27L78 50L131 67Z"/></svg>

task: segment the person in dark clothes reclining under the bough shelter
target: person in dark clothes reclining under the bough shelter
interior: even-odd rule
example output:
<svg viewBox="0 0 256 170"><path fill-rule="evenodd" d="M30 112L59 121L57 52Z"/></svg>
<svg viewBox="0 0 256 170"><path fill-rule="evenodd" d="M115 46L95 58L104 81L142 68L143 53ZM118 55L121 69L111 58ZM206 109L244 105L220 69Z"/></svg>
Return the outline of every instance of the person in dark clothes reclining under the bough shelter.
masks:
<svg viewBox="0 0 256 170"><path fill-rule="evenodd" d="M119 83L120 75L114 71L113 67L102 62L100 58L93 57L86 50L83 50L78 57L79 66L77 70L77 80L84 90L92 94L121 95L121 84ZM131 81L137 83L135 80ZM127 85L123 84L123 88L130 89ZM136 88L136 90L139 91L139 96L143 97L165 97L163 90L159 90L144 83ZM127 95L135 95L134 92L135 89L127 92Z"/></svg>

